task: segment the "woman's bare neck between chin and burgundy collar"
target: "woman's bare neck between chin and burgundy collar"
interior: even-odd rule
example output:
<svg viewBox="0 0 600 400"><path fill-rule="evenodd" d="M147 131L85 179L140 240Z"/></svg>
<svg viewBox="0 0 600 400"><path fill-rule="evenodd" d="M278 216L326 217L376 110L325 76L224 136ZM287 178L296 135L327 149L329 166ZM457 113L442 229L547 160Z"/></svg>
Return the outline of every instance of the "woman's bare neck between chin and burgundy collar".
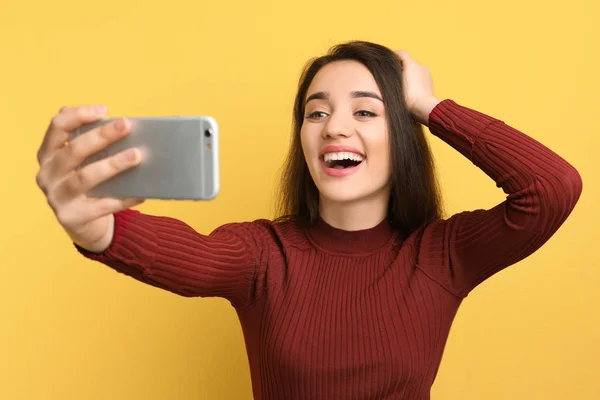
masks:
<svg viewBox="0 0 600 400"><path fill-rule="evenodd" d="M321 196L319 214L323 221L337 229L345 231L370 229L386 218L388 199L389 193L349 202L332 201Z"/></svg>

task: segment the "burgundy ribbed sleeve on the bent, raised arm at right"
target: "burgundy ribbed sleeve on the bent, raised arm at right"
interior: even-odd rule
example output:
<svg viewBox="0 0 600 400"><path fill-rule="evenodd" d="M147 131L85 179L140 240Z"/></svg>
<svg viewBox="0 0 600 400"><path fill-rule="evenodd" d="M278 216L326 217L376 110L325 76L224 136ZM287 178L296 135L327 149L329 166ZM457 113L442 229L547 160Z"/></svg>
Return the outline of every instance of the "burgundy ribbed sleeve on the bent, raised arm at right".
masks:
<svg viewBox="0 0 600 400"><path fill-rule="evenodd" d="M434 108L429 129L507 194L489 210L458 213L422 233L418 268L462 298L546 243L575 207L582 181L541 143L452 100Z"/></svg>

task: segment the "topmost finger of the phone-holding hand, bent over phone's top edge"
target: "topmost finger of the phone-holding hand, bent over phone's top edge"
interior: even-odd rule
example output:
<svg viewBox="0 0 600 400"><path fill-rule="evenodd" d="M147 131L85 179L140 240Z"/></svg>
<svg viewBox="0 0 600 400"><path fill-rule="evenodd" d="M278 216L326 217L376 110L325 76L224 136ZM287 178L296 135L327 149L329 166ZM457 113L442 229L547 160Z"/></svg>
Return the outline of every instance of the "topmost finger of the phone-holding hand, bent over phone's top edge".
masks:
<svg viewBox="0 0 600 400"><path fill-rule="evenodd" d="M73 130L83 124L98 121L105 115L106 107L104 106L61 108L59 113L52 118L46 130L37 153L38 163L43 164L52 157L56 150L62 148Z"/></svg>

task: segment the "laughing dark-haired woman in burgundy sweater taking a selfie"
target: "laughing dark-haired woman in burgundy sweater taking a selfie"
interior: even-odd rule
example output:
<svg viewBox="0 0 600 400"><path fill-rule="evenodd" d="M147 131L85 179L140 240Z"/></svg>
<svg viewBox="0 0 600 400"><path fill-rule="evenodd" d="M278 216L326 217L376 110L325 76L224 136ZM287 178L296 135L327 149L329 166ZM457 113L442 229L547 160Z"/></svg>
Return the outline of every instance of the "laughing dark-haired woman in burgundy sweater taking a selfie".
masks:
<svg viewBox="0 0 600 400"><path fill-rule="evenodd" d="M257 399L428 399L462 299L542 246L573 210L577 171L503 122L438 100L405 52L351 42L312 60L294 106L281 218L201 235L131 199L92 199L134 167L126 151L80 171L128 133L64 108L38 153L38 184L77 249L183 296L221 296L243 328ZM441 217L422 125L507 194Z"/></svg>

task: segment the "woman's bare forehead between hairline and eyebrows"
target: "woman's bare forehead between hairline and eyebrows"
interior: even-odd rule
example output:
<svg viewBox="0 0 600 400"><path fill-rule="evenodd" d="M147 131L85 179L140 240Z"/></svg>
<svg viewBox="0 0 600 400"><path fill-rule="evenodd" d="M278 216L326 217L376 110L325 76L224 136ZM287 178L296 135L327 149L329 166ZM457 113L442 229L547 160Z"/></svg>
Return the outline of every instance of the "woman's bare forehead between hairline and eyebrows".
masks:
<svg viewBox="0 0 600 400"><path fill-rule="evenodd" d="M329 92L331 96L347 95L352 91L370 91L381 95L367 67L358 61L343 60L321 68L308 87L307 95L315 92Z"/></svg>

